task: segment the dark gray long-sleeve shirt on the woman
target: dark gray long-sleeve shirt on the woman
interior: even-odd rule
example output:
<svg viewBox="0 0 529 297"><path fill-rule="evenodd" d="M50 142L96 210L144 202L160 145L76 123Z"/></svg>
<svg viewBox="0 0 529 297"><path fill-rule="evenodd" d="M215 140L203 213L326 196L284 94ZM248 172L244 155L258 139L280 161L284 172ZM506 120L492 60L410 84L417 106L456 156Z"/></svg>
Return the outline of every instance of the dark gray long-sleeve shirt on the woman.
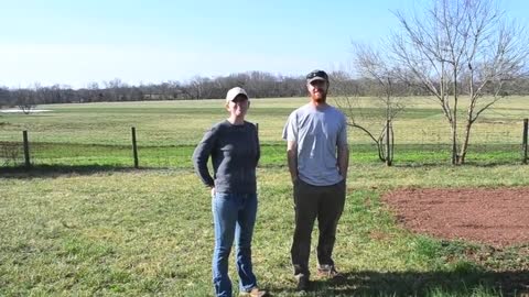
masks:
<svg viewBox="0 0 529 297"><path fill-rule="evenodd" d="M214 176L207 162L212 157ZM256 125L231 124L227 120L212 127L193 153L193 165L204 185L217 193L257 191L256 167L260 157Z"/></svg>

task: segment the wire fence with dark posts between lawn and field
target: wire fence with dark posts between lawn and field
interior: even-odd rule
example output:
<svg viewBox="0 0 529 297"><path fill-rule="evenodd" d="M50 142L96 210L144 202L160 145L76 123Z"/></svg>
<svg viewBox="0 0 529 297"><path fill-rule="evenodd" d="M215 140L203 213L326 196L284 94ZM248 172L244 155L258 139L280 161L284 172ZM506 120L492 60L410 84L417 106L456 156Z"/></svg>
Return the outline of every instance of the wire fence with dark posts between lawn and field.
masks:
<svg viewBox="0 0 529 297"><path fill-rule="evenodd" d="M403 129L401 130L403 131ZM395 132L393 164L450 164L452 144L450 133L432 133L428 129L415 129L413 135ZM0 167L32 168L43 166L63 167L142 167L142 168L192 168L195 141L175 142L168 145L153 143L148 135L138 136L136 128L123 132L119 141L106 138L93 143L69 143L46 131L21 131L19 141L0 141ZM527 164L528 120L517 129L473 130L466 163L471 164ZM168 135L170 138L175 135ZM50 142L46 140L58 140ZM128 141L127 141L128 139ZM359 141L359 134L349 138L350 162L379 163L374 143ZM400 141L402 140L402 141ZM127 144L127 142L129 144ZM284 166L285 144L281 140L261 141L260 166Z"/></svg>

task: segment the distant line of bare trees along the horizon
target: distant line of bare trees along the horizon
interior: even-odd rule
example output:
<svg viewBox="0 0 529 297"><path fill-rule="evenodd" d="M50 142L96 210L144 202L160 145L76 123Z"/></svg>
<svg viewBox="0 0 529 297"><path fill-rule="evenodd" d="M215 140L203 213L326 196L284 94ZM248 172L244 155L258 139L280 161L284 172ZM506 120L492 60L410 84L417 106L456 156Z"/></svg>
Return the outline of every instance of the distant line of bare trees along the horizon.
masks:
<svg viewBox="0 0 529 297"><path fill-rule="evenodd" d="M333 96L377 96L377 81L366 78L353 78L350 75L335 72L330 74ZM234 86L245 88L251 98L278 98L306 96L304 76L281 76L262 72L233 74L208 78L195 77L187 82L171 80L162 84L130 86L119 78L111 81L90 84L87 88L72 89L68 86L40 86L9 89L0 87L1 107L22 107L46 103L79 103L102 101L140 100L198 100L224 98ZM395 94L403 96L429 95L421 87L401 82L393 86ZM508 81L503 95L528 95L529 79Z"/></svg>

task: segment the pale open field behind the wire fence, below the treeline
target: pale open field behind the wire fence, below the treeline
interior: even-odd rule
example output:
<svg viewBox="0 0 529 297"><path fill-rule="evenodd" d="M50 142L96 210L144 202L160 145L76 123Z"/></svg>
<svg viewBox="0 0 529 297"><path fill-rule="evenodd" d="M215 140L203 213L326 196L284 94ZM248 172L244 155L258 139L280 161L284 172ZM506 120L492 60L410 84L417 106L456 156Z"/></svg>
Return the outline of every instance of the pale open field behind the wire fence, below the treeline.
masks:
<svg viewBox="0 0 529 297"><path fill-rule="evenodd" d="M407 99L408 108L393 123L396 164L446 164L450 129L440 108L424 98ZM522 119L529 114L526 97L507 98L474 125L467 161L475 164L516 164L521 160ZM248 120L259 124L262 166L284 164L282 127L305 98L256 99ZM365 125L378 111L371 98L361 99ZM137 129L140 166L190 167L190 154L205 130L226 112L222 100L50 105L44 113L1 114L0 148L15 145L23 163L22 131L29 131L32 164L58 166L131 166L131 127ZM360 113L360 112L359 112ZM371 114L371 116L369 116ZM375 132L376 133L376 132ZM359 130L349 129L355 162L377 162L376 147ZM3 145L2 145L3 143ZM0 150L0 157L6 155ZM9 160L8 160L9 161ZM0 160L1 163L1 160Z"/></svg>

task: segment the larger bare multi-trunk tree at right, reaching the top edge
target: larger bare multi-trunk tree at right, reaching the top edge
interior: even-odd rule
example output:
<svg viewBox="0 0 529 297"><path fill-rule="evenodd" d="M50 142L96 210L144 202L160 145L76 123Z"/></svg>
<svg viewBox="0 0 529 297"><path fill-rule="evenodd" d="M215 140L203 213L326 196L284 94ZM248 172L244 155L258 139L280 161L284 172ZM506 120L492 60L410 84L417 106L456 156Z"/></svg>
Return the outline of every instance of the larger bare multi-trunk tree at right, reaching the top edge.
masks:
<svg viewBox="0 0 529 297"><path fill-rule="evenodd" d="M431 3L423 14L396 13L403 30L391 38L392 53L408 79L441 106L452 133L452 164L464 164L472 125L507 95L507 81L525 75L527 35L506 22L494 0ZM462 135L460 103L466 105Z"/></svg>

